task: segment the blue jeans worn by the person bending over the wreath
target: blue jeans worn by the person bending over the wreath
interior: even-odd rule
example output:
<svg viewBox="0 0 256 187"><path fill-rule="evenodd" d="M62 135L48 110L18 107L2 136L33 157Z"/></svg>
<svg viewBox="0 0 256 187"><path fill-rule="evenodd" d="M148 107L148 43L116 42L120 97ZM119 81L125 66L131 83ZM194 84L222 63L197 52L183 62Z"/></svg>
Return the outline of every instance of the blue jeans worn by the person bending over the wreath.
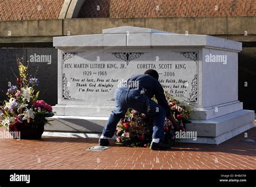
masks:
<svg viewBox="0 0 256 187"><path fill-rule="evenodd" d="M116 108L111 112L109 120L102 135L112 138L120 119L125 116L128 108L145 113L153 119L152 138L164 140L164 120L166 112L159 104L140 93L140 89L118 88L114 93L114 104Z"/></svg>

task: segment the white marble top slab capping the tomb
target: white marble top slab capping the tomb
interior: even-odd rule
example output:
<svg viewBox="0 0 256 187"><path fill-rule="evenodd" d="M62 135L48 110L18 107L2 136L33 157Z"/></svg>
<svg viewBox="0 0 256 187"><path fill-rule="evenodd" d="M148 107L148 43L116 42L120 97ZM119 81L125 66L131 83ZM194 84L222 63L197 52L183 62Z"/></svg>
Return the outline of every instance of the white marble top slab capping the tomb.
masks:
<svg viewBox="0 0 256 187"><path fill-rule="evenodd" d="M108 30L107 34L76 35L69 37L54 37L53 46L62 47L209 47L225 50L242 50L242 43L208 35L185 35L174 33L140 33L143 31L155 32L147 28L132 28L124 26ZM134 31L134 29L136 31ZM140 31L139 31L140 30ZM124 34L124 31L129 34ZM149 32L148 31L148 32ZM137 32L137 33L134 33Z"/></svg>

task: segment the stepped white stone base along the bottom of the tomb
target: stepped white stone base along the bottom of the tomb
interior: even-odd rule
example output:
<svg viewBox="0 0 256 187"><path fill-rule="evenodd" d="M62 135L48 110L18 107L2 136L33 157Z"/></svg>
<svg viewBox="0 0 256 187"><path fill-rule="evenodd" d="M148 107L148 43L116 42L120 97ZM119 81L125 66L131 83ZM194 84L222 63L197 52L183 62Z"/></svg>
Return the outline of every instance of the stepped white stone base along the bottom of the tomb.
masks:
<svg viewBox="0 0 256 187"><path fill-rule="evenodd" d="M85 110L84 108L87 107L79 107L76 114ZM54 107L54 109L56 109L56 107ZM64 111L70 110L71 109L69 107L64 109ZM72 108L72 110L74 109ZM99 111L100 110L105 110L110 113L110 108L100 108ZM95 114L95 111L91 112ZM100 115L101 114L99 114L99 116ZM46 126L43 135L99 138L104 126L106 125L107 119L108 117L97 116L54 116L51 118L51 120L53 120L51 121L52 126ZM239 110L208 120L191 120L192 123L186 124L186 129L187 132L191 132L193 135L196 135L196 138L194 136L193 138L181 138L179 141L218 145L254 127L253 120L254 111L250 110Z"/></svg>

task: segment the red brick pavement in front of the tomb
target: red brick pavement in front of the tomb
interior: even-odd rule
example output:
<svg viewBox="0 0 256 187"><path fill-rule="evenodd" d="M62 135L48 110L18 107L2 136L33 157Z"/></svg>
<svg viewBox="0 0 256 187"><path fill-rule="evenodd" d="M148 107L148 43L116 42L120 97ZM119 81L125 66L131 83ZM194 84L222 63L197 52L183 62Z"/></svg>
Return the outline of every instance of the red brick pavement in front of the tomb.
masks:
<svg viewBox="0 0 256 187"><path fill-rule="evenodd" d="M246 132L248 139L256 139L256 127ZM112 141L113 147L98 152L86 150L97 139L0 139L0 169L256 169L256 144L242 139L244 133L218 146L178 143L169 151Z"/></svg>

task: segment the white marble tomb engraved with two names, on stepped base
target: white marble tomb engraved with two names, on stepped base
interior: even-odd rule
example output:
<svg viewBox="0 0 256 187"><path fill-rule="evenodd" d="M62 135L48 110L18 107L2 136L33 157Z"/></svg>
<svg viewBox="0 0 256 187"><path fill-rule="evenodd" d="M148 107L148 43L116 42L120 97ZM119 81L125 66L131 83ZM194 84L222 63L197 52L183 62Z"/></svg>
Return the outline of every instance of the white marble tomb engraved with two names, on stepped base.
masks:
<svg viewBox="0 0 256 187"><path fill-rule="evenodd" d="M118 85L147 69L156 69L165 90L194 106L199 119L186 127L198 137L182 142L218 145L254 126L254 111L243 110L238 100L240 42L123 26L54 37L53 46L58 48L57 116L45 135L98 137Z"/></svg>

